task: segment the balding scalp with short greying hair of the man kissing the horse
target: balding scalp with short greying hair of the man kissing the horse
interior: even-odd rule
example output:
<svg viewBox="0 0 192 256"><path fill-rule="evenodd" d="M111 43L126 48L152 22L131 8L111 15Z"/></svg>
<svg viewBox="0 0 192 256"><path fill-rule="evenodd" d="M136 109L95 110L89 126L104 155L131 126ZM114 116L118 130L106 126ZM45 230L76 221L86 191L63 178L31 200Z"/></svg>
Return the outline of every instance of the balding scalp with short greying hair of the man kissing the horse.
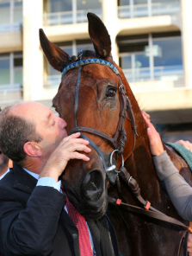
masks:
<svg viewBox="0 0 192 256"><path fill-rule="evenodd" d="M33 102L17 103L0 112L0 148L15 163L22 163L27 157L23 150L25 143L42 140L36 131L32 113L33 106L37 105L38 103Z"/></svg>

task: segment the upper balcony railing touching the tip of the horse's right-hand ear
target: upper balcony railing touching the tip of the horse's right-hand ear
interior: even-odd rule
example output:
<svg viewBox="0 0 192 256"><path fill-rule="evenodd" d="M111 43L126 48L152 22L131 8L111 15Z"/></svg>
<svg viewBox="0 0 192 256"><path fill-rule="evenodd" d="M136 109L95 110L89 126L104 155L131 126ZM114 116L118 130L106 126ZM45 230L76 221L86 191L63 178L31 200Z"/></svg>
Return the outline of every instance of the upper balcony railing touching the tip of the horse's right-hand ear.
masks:
<svg viewBox="0 0 192 256"><path fill-rule="evenodd" d="M64 12L54 12L46 13L43 16L44 26L57 26L72 23L82 23L87 22L87 13L94 12L97 16L102 18L102 10L77 10L77 11L64 11Z"/></svg>

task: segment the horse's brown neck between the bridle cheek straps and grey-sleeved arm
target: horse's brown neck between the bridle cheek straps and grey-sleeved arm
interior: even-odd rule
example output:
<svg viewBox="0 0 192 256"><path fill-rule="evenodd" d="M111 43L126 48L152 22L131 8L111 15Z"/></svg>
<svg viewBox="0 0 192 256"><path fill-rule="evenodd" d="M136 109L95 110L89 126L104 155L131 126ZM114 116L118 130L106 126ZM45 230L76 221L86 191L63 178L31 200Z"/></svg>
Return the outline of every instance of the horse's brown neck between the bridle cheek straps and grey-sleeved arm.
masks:
<svg viewBox="0 0 192 256"><path fill-rule="evenodd" d="M137 132L139 137L136 137L136 144L131 157L125 162L128 172L139 183L139 187L144 197L152 198L156 202L161 202L160 187L158 182L158 176L156 174L154 164L152 161L152 154L149 146L149 140L146 132L146 122L140 112L137 100L131 91L131 88L127 84L127 80L123 81L127 89L127 95L133 106L133 113L136 120ZM130 130L130 126L129 126ZM127 131L130 137L130 131ZM133 137L133 133L131 134ZM130 142L129 137L127 138ZM129 149L130 150L130 147ZM146 198L145 198L146 199Z"/></svg>

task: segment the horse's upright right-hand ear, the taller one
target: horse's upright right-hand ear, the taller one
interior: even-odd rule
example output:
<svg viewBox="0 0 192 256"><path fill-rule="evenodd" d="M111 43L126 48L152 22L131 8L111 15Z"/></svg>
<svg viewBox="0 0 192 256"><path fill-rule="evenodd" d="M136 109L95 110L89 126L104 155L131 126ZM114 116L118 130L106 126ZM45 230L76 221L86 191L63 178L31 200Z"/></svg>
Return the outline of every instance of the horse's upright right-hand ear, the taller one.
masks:
<svg viewBox="0 0 192 256"><path fill-rule="evenodd" d="M108 35L108 30L102 20L94 13L89 12L87 17L89 21L90 39L93 42L96 54L107 59L111 52L111 39L110 35Z"/></svg>

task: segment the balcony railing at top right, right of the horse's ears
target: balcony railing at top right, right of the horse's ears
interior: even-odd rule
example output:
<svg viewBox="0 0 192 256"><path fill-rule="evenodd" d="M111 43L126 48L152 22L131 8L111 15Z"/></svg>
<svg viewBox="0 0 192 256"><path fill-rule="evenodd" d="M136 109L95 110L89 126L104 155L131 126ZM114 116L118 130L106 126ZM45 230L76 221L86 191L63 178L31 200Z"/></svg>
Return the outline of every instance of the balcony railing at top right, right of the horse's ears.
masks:
<svg viewBox="0 0 192 256"><path fill-rule="evenodd" d="M139 18L146 16L164 16L177 13L181 8L180 3L152 3L135 4L118 7L118 17L121 19Z"/></svg>

